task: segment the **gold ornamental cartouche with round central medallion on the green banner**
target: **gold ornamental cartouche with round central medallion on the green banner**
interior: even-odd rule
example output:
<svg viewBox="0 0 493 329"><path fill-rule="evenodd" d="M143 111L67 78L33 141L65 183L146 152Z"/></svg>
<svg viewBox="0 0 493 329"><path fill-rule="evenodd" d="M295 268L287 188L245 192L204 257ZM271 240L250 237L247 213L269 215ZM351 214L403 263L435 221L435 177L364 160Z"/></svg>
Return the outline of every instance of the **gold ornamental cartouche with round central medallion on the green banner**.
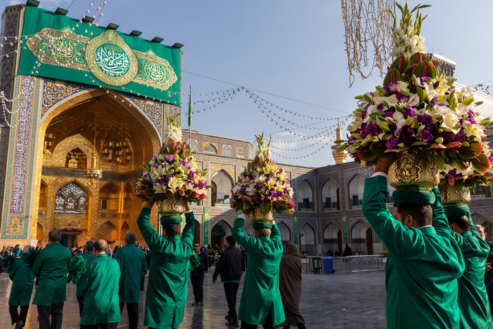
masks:
<svg viewBox="0 0 493 329"><path fill-rule="evenodd" d="M177 81L167 60L154 56L152 51L132 50L112 30L90 39L45 28L27 39L26 44L43 64L88 71L112 86L137 82L167 90Z"/></svg>

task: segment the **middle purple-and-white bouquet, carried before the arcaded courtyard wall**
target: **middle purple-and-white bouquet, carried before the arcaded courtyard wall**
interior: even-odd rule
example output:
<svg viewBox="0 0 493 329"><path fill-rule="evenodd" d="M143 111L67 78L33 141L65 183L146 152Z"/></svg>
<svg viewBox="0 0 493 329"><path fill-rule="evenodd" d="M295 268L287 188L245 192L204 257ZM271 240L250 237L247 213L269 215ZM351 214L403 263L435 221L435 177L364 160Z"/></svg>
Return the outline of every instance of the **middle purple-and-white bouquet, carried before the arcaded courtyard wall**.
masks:
<svg viewBox="0 0 493 329"><path fill-rule="evenodd" d="M294 212L294 193L290 180L282 168L270 158L270 141L266 145L264 134L257 138L255 159L247 164L231 190L231 208L269 208L279 214Z"/></svg>

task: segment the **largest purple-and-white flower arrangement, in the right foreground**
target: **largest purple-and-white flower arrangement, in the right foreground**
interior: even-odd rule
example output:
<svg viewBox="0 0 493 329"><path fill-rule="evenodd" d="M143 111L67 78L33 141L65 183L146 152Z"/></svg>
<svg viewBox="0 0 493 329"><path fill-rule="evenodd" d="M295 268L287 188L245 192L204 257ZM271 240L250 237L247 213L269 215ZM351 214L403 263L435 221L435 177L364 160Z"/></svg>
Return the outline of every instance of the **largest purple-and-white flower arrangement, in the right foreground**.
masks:
<svg viewBox="0 0 493 329"><path fill-rule="evenodd" d="M410 13L417 10L418 19L412 26L414 32L419 32L419 8L423 6L411 12L407 5L399 8L403 12L403 30L412 25ZM399 44L394 47L401 47ZM419 52L397 57L383 86L356 97L359 103L355 120L348 127L351 136L348 141L336 141L340 144L336 151L346 149L356 162L366 166L375 164L379 157L410 151L433 161L444 178L445 174L455 174L450 173L451 167L486 173L493 160L485 143L486 128L492 120L475 112L482 102L475 102L472 89L457 90L453 86L455 80L439 75L432 60Z"/></svg>

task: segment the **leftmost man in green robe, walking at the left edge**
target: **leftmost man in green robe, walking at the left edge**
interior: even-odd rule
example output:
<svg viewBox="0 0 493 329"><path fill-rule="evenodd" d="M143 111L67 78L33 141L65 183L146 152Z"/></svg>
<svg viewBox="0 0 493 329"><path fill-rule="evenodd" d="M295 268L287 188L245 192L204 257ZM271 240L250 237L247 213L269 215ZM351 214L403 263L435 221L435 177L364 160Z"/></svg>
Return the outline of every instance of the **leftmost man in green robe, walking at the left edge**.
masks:
<svg viewBox="0 0 493 329"><path fill-rule="evenodd" d="M31 248L26 245L23 252L26 254ZM1 265L0 265L1 266ZM23 328L31 302L32 287L34 285L34 275L31 268L24 262L22 254L16 256L14 264L10 267L9 278L12 280L12 289L10 289L9 312L12 324L15 328ZM21 313L18 313L18 306L21 306Z"/></svg>

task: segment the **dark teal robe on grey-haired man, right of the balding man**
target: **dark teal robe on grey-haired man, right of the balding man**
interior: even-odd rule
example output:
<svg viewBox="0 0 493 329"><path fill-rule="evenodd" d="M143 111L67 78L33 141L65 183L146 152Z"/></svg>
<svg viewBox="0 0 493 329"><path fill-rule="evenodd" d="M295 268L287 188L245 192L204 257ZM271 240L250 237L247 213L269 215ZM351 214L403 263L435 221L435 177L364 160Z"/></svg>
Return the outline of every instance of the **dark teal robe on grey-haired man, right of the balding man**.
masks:
<svg viewBox="0 0 493 329"><path fill-rule="evenodd" d="M120 296L121 303L138 303L140 295L140 273L147 269L145 254L136 245L127 243L118 248L114 259L120 265Z"/></svg>

